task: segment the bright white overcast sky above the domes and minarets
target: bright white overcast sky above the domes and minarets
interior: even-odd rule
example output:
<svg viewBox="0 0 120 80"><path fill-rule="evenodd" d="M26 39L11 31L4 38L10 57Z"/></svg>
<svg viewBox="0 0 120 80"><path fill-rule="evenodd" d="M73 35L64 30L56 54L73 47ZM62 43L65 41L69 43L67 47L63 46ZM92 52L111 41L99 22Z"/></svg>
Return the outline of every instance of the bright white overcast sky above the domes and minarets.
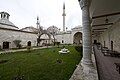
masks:
<svg viewBox="0 0 120 80"><path fill-rule="evenodd" d="M62 30L63 3L66 8L66 27L70 30L82 25L82 12L78 0L0 0L0 12L10 14L10 21L17 27L36 27L37 16L40 25L47 29L54 25Z"/></svg>

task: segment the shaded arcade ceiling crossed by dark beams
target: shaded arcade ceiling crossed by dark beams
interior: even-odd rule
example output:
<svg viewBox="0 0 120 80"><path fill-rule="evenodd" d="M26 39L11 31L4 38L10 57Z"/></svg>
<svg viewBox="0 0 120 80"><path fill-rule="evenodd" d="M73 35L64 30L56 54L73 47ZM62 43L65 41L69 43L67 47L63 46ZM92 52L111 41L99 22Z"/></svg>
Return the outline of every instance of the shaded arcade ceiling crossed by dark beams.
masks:
<svg viewBox="0 0 120 80"><path fill-rule="evenodd" d="M120 0L92 0L90 5L93 33L102 33L120 18Z"/></svg>

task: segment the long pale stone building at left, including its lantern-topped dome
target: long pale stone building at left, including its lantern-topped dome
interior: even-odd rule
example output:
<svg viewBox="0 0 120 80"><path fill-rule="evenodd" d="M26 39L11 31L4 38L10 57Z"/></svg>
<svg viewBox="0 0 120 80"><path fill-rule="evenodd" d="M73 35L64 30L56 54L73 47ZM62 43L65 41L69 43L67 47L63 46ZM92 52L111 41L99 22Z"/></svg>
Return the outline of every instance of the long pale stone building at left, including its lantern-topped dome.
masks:
<svg viewBox="0 0 120 80"><path fill-rule="evenodd" d="M20 40L22 47L26 47L28 41L31 41L32 46L36 46L37 35L35 32L19 30L9 21L10 15L7 12L0 14L0 46L2 49L16 48L14 40Z"/></svg>

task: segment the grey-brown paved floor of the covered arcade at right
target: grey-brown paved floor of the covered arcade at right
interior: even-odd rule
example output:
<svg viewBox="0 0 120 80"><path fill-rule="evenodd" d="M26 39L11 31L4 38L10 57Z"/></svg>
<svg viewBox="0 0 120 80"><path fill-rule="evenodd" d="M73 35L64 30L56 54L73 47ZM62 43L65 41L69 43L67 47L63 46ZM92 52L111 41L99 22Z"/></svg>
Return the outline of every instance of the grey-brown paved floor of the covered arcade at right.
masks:
<svg viewBox="0 0 120 80"><path fill-rule="evenodd" d="M120 63L120 58L104 56L101 50L94 46L97 69L100 80L120 80L120 74L116 71L114 63Z"/></svg>

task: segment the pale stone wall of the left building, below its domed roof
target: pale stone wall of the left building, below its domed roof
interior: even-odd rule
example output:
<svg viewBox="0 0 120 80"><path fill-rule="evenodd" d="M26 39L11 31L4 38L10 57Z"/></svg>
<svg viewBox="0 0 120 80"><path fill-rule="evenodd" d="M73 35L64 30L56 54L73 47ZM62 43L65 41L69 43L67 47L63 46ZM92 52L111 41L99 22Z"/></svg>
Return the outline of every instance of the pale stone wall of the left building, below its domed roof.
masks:
<svg viewBox="0 0 120 80"><path fill-rule="evenodd" d="M10 42L9 48L15 48L14 40L21 40L23 47L27 46L27 42L31 41L32 46L36 46L37 35L30 32L11 30L11 29L0 29L0 45L3 48L3 42Z"/></svg>

